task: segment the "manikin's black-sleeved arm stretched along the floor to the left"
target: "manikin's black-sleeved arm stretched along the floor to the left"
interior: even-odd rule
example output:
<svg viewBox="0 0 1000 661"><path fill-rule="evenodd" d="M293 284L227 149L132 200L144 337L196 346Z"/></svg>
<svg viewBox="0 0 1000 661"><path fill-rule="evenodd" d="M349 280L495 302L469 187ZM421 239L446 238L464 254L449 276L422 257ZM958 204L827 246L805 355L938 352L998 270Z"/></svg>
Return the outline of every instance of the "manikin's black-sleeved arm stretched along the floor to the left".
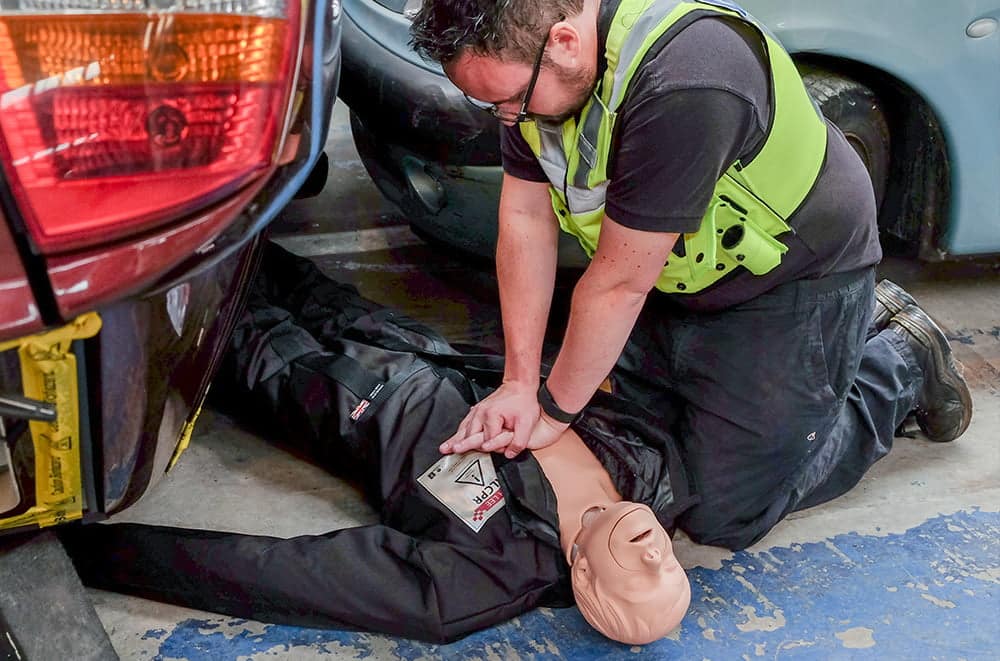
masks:
<svg viewBox="0 0 1000 661"><path fill-rule="evenodd" d="M490 525L509 530L496 518ZM533 538L459 545L382 525L278 539L115 524L68 528L61 537L91 587L269 623L437 643L551 599L562 562Z"/></svg>

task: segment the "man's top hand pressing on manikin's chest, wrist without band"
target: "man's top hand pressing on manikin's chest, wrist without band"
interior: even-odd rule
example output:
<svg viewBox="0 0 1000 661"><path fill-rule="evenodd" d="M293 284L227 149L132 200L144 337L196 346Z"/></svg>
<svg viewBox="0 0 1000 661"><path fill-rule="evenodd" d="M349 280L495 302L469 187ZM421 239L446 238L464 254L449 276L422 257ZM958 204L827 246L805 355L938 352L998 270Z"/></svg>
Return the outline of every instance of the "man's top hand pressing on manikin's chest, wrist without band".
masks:
<svg viewBox="0 0 1000 661"><path fill-rule="evenodd" d="M536 385L506 382L469 410L458 430L439 450L450 454L507 448L508 456L514 457L528 445L540 414ZM512 434L501 436L504 431Z"/></svg>

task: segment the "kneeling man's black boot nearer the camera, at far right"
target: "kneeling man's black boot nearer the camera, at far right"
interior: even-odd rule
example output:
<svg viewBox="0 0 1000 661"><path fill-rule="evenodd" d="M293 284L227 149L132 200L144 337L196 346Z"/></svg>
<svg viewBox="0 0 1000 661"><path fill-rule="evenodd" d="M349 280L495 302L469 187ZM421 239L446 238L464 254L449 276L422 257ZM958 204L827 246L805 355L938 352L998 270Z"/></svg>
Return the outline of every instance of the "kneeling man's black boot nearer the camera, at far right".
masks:
<svg viewBox="0 0 1000 661"><path fill-rule="evenodd" d="M948 338L916 305L895 314L887 329L906 340L923 369L924 384L914 410L921 431L939 443L955 440L972 419L972 394Z"/></svg>

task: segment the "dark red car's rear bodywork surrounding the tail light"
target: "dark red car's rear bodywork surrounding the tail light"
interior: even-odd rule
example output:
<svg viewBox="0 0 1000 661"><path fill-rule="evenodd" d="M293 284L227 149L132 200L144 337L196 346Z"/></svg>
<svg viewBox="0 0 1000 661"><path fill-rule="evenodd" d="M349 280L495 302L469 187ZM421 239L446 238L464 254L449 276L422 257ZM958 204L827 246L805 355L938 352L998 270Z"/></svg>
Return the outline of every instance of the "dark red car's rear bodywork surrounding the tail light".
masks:
<svg viewBox="0 0 1000 661"><path fill-rule="evenodd" d="M0 170L0 398L25 396L19 349L31 338L81 318L100 324L96 335L70 348L78 438L46 436L37 426L33 437L30 416L3 410L0 534L118 512L183 450L253 277L262 232L322 156L339 81L339 7L339 1L301 4L308 15L284 149L265 170L196 212L86 248L45 250ZM282 118L285 111L273 108ZM53 451L42 457L46 441ZM72 446L78 467L56 452L60 443ZM66 485L74 471L78 494ZM58 502L53 494L63 492L78 500ZM49 511L42 512L45 498L42 509Z"/></svg>

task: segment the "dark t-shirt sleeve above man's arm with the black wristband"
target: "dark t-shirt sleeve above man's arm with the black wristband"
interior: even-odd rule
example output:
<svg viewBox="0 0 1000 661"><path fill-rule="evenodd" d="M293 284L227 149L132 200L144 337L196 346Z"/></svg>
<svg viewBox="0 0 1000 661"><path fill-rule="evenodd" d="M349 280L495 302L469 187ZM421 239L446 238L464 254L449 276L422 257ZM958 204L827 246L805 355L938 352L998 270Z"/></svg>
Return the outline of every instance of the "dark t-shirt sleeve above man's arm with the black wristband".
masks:
<svg viewBox="0 0 1000 661"><path fill-rule="evenodd" d="M759 132L754 106L718 88L658 92L619 117L605 211L638 230L694 232L716 182Z"/></svg>

